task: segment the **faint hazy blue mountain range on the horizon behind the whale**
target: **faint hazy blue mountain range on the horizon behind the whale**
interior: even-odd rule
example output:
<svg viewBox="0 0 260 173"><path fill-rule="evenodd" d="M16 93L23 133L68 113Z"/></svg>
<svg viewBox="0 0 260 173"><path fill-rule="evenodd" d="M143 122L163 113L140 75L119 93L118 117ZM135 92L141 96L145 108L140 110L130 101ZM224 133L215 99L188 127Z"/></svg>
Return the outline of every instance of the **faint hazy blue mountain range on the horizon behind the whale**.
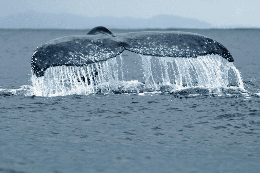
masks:
<svg viewBox="0 0 260 173"><path fill-rule="evenodd" d="M84 17L28 11L0 18L0 28L90 29L96 26L118 29L143 28L213 28L209 23L179 16L159 15L149 19L132 17Z"/></svg>

